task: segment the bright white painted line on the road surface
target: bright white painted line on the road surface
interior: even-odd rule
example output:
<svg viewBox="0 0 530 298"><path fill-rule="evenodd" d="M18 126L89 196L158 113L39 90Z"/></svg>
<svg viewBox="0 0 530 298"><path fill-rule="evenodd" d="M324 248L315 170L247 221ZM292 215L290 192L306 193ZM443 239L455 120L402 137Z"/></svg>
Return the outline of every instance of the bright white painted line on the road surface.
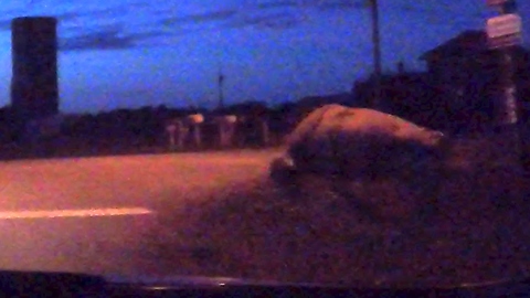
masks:
<svg viewBox="0 0 530 298"><path fill-rule="evenodd" d="M109 207L80 210L41 210L41 211L3 211L0 220L55 219L55 217L93 217L150 214L152 211L144 207Z"/></svg>

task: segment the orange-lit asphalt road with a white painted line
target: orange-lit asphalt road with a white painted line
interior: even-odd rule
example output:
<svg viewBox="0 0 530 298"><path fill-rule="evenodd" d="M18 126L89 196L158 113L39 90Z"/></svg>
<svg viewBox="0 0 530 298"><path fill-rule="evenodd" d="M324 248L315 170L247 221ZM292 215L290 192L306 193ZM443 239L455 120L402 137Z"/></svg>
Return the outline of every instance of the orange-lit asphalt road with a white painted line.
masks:
<svg viewBox="0 0 530 298"><path fill-rule="evenodd" d="M212 200L209 194L262 174L271 157L231 151L2 162L0 268L156 274L156 258L140 249L147 233L162 228L161 209ZM163 245L162 236L157 241Z"/></svg>

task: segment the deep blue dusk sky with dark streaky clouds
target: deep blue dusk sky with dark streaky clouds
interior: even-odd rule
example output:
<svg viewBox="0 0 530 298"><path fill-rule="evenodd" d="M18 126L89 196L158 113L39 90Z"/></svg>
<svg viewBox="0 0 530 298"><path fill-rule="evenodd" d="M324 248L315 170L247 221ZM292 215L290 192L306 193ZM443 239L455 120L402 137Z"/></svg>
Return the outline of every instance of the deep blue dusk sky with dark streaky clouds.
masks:
<svg viewBox="0 0 530 298"><path fill-rule="evenodd" d="M485 0L380 0L383 66L424 65L425 51L496 15ZM349 92L372 72L367 0L2 0L0 105L9 104L10 22L59 18L64 113L117 107L269 104ZM523 41L530 1L518 0Z"/></svg>

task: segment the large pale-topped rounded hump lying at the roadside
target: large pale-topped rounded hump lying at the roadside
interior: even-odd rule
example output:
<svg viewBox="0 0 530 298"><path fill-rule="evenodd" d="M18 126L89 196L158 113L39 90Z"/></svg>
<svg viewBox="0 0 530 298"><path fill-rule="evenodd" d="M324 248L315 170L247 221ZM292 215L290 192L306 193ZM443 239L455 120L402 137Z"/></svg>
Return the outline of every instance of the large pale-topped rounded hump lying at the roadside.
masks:
<svg viewBox="0 0 530 298"><path fill-rule="evenodd" d="M392 175L443 160L449 143L442 131L390 114L326 105L311 111L286 138L285 152L272 162L271 174Z"/></svg>

